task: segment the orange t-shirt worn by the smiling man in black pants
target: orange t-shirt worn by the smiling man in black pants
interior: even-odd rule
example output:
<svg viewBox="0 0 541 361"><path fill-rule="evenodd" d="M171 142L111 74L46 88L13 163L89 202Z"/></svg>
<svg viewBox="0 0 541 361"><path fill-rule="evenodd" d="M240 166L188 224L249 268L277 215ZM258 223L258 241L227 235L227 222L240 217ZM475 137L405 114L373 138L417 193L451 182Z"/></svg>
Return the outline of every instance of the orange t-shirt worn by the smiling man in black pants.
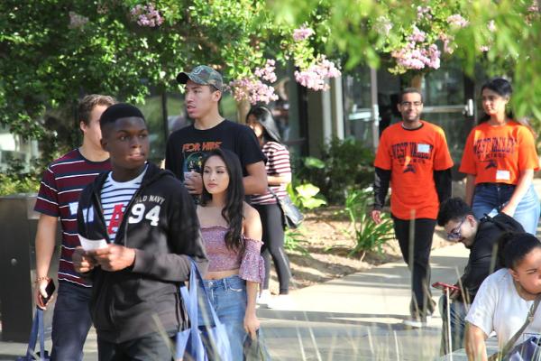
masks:
<svg viewBox="0 0 541 361"><path fill-rule="evenodd" d="M385 129L374 161L374 166L390 171L390 212L399 219L436 219L434 171L453 166L444 130L421 123L417 129L405 129L402 123Z"/></svg>

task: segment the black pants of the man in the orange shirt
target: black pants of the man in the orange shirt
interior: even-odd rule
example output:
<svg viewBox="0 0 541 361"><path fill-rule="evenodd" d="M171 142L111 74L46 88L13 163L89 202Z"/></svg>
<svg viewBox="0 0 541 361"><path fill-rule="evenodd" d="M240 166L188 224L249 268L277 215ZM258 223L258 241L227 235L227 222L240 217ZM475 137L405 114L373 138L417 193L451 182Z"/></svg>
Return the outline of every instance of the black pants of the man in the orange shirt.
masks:
<svg viewBox="0 0 541 361"><path fill-rule="evenodd" d="M402 257L411 271L412 297L409 310L413 318L426 319L435 308L430 292L429 258L436 219L417 218L411 221L393 216L393 220ZM414 226L410 235L412 223Z"/></svg>

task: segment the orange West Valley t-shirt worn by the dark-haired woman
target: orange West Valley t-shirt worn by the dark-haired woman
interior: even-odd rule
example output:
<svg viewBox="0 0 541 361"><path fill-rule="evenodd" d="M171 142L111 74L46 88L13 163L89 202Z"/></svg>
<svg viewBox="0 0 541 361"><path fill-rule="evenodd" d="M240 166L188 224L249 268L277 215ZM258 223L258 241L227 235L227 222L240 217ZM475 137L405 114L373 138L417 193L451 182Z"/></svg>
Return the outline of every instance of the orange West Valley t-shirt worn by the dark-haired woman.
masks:
<svg viewBox="0 0 541 361"><path fill-rule="evenodd" d="M525 125L481 123L472 129L459 171L478 183L517 184L520 171L539 169L534 135Z"/></svg>

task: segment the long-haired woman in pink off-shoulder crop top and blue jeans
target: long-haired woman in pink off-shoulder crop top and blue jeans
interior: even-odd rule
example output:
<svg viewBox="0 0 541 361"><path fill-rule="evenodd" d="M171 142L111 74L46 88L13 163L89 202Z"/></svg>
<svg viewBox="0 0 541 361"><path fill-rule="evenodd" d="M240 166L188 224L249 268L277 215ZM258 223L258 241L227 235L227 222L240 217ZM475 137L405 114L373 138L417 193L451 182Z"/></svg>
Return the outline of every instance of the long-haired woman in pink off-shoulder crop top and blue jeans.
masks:
<svg viewBox="0 0 541 361"><path fill-rule="evenodd" d="M206 156L197 217L208 257L204 283L218 319L227 329L234 360L243 360L243 342L256 337L258 284L264 279L261 220L244 202L243 172L237 156L216 149ZM205 312L199 324L207 325Z"/></svg>

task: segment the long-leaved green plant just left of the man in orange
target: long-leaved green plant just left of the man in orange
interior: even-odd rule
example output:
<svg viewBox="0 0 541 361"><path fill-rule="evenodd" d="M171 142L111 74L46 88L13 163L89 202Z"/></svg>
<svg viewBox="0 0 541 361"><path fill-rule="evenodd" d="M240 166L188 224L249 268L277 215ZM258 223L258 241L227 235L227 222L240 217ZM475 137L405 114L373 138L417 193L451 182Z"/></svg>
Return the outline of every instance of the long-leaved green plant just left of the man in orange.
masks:
<svg viewBox="0 0 541 361"><path fill-rule="evenodd" d="M348 192L343 212L350 218L353 231L346 231L353 236L356 245L349 255L361 255L361 260L368 251L382 252L381 246L394 238L392 220L387 214L381 213L381 223L371 219L372 190L353 190Z"/></svg>

